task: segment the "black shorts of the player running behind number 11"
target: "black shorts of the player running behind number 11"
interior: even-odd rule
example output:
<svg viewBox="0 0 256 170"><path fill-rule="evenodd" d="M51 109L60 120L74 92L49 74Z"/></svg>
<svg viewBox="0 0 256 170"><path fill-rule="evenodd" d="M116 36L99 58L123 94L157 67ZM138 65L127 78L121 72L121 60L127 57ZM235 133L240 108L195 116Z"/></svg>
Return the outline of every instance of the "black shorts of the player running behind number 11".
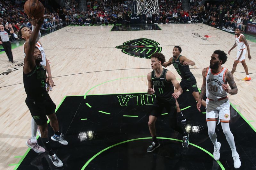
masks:
<svg viewBox="0 0 256 170"><path fill-rule="evenodd" d="M182 78L180 82L180 86L183 90L183 93L189 90L190 92L199 92L196 85L196 78L191 76L189 78Z"/></svg>

